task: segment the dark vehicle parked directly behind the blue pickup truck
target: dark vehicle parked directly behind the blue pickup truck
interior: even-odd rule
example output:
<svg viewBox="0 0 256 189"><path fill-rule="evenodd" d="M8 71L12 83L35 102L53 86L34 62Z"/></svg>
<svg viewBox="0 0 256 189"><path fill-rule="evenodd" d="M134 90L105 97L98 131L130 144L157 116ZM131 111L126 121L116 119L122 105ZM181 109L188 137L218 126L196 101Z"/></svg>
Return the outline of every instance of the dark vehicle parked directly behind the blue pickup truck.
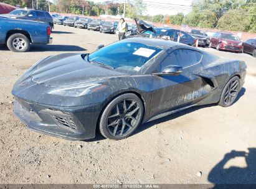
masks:
<svg viewBox="0 0 256 189"><path fill-rule="evenodd" d="M1 14L3 17L11 17L12 19L27 19L31 21L45 22L54 29L54 21L49 12L34 9L16 9L9 14Z"/></svg>

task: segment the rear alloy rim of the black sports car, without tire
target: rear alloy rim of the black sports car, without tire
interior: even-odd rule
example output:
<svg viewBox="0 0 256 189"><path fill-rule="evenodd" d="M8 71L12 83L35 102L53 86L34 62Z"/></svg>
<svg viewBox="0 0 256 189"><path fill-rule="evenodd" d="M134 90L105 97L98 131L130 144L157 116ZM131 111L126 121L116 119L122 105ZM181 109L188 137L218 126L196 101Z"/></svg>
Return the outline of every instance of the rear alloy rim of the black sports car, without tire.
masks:
<svg viewBox="0 0 256 189"><path fill-rule="evenodd" d="M224 103L229 106L230 104L234 103L237 94L239 93L239 81L234 80L232 81L227 89L225 90L225 98Z"/></svg>

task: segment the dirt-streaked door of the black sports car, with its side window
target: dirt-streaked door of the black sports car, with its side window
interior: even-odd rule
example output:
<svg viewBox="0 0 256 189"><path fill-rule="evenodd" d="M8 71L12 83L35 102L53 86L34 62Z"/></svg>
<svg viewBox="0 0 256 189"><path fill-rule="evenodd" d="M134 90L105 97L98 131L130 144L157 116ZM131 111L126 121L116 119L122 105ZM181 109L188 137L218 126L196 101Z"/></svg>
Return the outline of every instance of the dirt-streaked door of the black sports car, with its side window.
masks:
<svg viewBox="0 0 256 189"><path fill-rule="evenodd" d="M180 75L153 75L151 115L189 106L204 95L202 78L193 74L202 69L201 59L200 52L177 49L160 63L154 72L161 72L168 65L182 66L183 72Z"/></svg>

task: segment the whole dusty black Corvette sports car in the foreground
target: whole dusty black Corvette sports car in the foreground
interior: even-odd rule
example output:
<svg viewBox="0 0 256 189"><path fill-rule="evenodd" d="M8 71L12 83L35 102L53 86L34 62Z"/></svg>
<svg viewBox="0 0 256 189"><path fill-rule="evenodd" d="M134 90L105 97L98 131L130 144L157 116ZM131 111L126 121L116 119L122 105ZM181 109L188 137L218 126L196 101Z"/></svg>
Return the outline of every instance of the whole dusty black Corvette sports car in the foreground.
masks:
<svg viewBox="0 0 256 189"><path fill-rule="evenodd" d="M30 129L65 139L130 136L144 122L191 106L230 106L245 62L176 42L131 38L91 54L40 60L13 87L14 113Z"/></svg>

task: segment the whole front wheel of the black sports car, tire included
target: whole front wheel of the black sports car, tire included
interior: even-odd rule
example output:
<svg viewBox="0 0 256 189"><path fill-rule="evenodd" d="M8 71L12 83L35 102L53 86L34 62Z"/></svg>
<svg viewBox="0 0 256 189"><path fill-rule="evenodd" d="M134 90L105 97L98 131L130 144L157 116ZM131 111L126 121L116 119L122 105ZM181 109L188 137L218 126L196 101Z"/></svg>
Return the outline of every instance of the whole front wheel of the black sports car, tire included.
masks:
<svg viewBox="0 0 256 189"><path fill-rule="evenodd" d="M104 109L99 122L100 133L108 139L124 139L140 125L143 113L143 103L136 94L121 94Z"/></svg>

